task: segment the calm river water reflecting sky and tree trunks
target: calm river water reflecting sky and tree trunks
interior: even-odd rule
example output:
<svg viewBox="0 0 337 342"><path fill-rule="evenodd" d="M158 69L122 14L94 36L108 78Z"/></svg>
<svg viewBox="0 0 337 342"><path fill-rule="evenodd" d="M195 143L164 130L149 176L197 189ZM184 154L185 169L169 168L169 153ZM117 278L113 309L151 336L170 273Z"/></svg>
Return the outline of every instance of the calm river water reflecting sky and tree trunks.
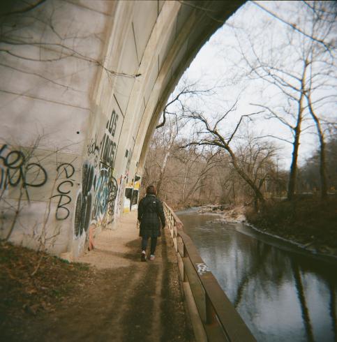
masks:
<svg viewBox="0 0 337 342"><path fill-rule="evenodd" d="M336 341L336 263L216 215L178 216L257 341Z"/></svg>

